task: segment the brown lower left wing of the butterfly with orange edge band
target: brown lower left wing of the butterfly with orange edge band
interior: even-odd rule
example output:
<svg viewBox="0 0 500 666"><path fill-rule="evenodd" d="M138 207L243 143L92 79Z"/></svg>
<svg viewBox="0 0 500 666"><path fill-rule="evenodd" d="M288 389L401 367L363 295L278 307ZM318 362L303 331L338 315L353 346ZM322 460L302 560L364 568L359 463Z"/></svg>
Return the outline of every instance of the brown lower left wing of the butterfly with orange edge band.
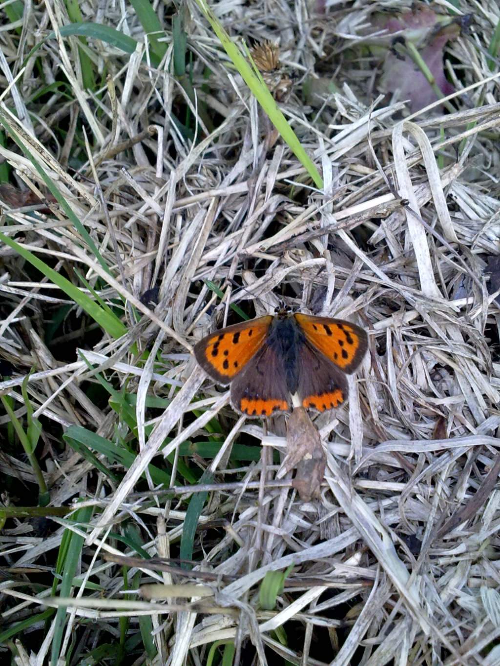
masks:
<svg viewBox="0 0 500 666"><path fill-rule="evenodd" d="M289 400L284 360L264 343L231 384L231 404L243 414L262 417L288 412Z"/></svg>

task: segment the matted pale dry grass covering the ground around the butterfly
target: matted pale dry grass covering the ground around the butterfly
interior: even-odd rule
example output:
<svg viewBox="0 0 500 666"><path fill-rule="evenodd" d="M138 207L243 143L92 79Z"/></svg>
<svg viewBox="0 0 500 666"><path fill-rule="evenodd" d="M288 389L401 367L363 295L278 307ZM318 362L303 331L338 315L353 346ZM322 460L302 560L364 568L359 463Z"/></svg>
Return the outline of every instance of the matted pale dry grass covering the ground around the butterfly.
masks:
<svg viewBox="0 0 500 666"><path fill-rule="evenodd" d="M234 645L242 664L500 663L500 310L485 274L499 254L499 84L486 58L498 7L461 3L475 28L447 47L455 113L436 104L408 117L404 100L377 95L371 57L346 56L377 3L331 4L325 15L299 1L213 5L232 37L279 39L283 67L298 75L280 106L323 191L195 3L182 12L189 75L173 75L183 51L171 17L161 18L164 55L153 66L157 43L119 3L97 18L90 5L81 11L137 39L130 57L65 37L25 63L41 36L69 23L59 2L30 5L22 31L0 32L4 176L46 193L17 137L103 262L52 200L13 202L3 190L0 231L127 327L103 334L60 285L0 245L0 359L12 364L0 395L25 430L39 420L50 507L78 504L80 523L52 516L43 536L25 515L5 523L1 659L10 650L23 665L66 655L201 665L231 663ZM301 91L318 63L329 63L338 92L307 105ZM38 99L41 81L66 83ZM154 313L140 300L152 286ZM349 405L315 418L327 451L318 501L300 501L280 469L285 418L238 418L225 390L202 386L189 354L228 316L239 320L230 304L253 316L280 298L369 331ZM36 505L36 470L9 420L0 417L1 499ZM103 454L95 436L129 458ZM249 462L255 444L261 456ZM73 565L63 533L81 535L70 539ZM173 561L116 559L146 553ZM192 570L179 568L185 553ZM289 565L275 607L263 609L265 574Z"/></svg>

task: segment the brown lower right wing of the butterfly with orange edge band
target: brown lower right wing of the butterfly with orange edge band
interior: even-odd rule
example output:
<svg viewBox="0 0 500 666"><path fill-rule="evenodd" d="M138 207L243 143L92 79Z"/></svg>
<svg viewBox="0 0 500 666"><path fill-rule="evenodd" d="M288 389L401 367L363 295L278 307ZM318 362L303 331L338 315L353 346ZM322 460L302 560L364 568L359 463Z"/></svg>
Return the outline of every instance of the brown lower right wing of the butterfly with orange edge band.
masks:
<svg viewBox="0 0 500 666"><path fill-rule="evenodd" d="M331 410L347 400L348 392L345 374L321 352L304 342L299 354L297 386L302 406L318 412Z"/></svg>

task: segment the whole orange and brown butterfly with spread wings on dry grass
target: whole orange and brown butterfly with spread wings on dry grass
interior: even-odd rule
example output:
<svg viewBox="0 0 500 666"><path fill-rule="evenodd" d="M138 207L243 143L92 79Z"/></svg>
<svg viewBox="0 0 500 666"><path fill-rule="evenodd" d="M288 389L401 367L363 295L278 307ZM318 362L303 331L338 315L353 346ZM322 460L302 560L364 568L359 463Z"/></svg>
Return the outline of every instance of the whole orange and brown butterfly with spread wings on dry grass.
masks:
<svg viewBox="0 0 500 666"><path fill-rule="evenodd" d="M318 412L347 399L345 374L356 370L367 334L341 319L292 314L227 326L197 342L197 362L218 384L231 384L231 404L248 416L291 410L291 396Z"/></svg>

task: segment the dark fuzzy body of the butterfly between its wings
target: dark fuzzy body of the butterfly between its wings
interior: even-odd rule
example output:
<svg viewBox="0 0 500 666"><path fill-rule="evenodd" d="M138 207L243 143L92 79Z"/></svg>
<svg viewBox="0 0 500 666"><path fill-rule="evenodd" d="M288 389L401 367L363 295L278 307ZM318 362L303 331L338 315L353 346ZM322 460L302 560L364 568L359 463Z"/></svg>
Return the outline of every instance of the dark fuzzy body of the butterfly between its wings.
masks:
<svg viewBox="0 0 500 666"><path fill-rule="evenodd" d="M283 359L287 388L291 394L297 392L299 384L299 351L305 336L290 312L279 312L273 319L265 343Z"/></svg>

